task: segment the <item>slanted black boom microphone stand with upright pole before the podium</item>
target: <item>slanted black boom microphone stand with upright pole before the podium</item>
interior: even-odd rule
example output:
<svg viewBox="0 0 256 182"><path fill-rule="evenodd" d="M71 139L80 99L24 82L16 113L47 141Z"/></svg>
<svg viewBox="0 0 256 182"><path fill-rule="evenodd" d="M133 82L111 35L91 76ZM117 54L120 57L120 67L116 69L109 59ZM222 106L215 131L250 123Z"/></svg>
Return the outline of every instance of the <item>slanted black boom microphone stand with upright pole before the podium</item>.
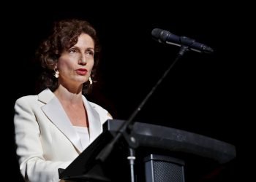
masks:
<svg viewBox="0 0 256 182"><path fill-rule="evenodd" d="M129 116L129 119L126 122L121 124L121 126L117 130L118 132L117 132L116 136L112 139L112 141L110 141L110 143L108 143L108 145L105 146L105 148L102 149L102 151L100 151L99 154L96 157L97 160L99 160L101 162L104 162L105 159L107 159L107 157L110 154L110 152L113 150L113 147L116 144L116 142L118 141L118 139L121 138L121 136L123 136L125 138L125 140L127 141L128 145L129 145L129 157L127 157L127 159L129 159L130 173L131 173L131 182L135 182L135 172L134 172L135 148L138 147L138 141L136 141L135 137L133 137L132 134L131 134L132 127L133 127L133 124L134 124L134 120L133 119L138 114L138 112L141 110L141 108L143 108L143 106L145 105L146 101L148 100L148 98L151 97L151 95L157 89L159 84L162 83L162 80L165 79L165 77L169 73L170 69L173 68L175 63L188 50L189 50L189 47L181 45L181 48L180 48L180 50L178 52L178 55L177 55L176 59L173 61L173 63L169 66L169 68L167 68L165 73L158 80L157 84L154 85L154 87L151 89L151 91L148 92L148 95L146 95L146 98L144 98L142 100L142 102L140 103L138 108L136 108L135 111L132 112L132 115Z"/></svg>

